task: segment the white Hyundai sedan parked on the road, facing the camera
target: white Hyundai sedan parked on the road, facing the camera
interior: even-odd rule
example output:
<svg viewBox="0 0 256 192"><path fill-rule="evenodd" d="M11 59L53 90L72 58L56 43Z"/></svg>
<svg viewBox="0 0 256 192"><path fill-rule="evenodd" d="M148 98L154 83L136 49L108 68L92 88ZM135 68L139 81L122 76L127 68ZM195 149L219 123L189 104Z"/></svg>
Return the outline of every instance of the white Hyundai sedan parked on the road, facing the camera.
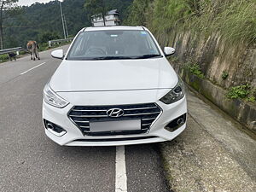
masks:
<svg viewBox="0 0 256 192"><path fill-rule="evenodd" d="M143 26L82 29L44 87L46 135L67 146L172 140L186 127L182 80Z"/></svg>

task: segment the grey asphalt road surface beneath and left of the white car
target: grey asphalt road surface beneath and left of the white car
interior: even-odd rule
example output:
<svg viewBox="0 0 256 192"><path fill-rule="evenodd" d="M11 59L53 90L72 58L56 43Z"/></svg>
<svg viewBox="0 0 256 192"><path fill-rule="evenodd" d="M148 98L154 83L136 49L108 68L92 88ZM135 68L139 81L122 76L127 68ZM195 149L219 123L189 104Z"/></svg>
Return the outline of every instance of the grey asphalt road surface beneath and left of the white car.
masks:
<svg viewBox="0 0 256 192"><path fill-rule="evenodd" d="M0 64L0 191L115 191L115 147L61 147L44 135L42 92L61 60L40 57ZM168 191L156 148L125 147L128 192Z"/></svg>

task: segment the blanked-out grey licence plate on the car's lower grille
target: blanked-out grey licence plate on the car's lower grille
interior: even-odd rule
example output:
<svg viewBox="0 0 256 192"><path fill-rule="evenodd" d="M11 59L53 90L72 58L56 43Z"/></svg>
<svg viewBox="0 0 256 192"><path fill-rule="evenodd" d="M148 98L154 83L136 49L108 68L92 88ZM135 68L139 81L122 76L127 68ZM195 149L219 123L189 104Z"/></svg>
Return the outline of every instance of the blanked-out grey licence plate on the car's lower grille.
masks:
<svg viewBox="0 0 256 192"><path fill-rule="evenodd" d="M141 130L141 119L90 122L90 132L139 131L139 130Z"/></svg>

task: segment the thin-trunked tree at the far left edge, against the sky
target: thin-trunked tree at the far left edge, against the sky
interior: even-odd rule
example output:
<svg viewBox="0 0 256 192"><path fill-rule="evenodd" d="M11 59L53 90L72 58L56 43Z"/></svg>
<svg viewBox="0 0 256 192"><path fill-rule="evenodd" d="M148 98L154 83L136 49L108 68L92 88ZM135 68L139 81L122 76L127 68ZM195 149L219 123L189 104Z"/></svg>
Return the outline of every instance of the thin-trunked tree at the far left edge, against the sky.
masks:
<svg viewBox="0 0 256 192"><path fill-rule="evenodd" d="M14 15L19 0L0 0L0 49L3 49L3 20Z"/></svg>

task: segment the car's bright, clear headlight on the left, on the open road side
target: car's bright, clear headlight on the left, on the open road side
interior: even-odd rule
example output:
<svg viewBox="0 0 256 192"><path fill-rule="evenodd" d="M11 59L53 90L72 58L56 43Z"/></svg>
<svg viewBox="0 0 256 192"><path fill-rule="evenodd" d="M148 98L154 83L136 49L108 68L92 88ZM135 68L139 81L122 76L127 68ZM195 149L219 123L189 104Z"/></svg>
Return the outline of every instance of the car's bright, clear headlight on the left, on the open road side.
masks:
<svg viewBox="0 0 256 192"><path fill-rule="evenodd" d="M44 102L47 102L49 105L52 105L56 108L64 108L69 103L62 99L61 96L58 96L53 90L51 90L49 83L44 87Z"/></svg>

